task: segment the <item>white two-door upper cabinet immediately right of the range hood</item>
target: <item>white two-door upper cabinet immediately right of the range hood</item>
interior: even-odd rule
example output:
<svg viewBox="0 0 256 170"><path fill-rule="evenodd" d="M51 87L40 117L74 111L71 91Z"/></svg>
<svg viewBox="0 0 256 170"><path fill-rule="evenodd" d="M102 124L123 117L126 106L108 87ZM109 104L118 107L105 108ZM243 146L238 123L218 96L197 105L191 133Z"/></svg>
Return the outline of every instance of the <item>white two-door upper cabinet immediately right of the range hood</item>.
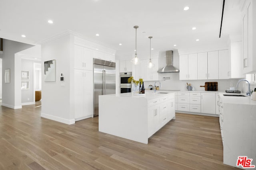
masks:
<svg viewBox="0 0 256 170"><path fill-rule="evenodd" d="M197 53L180 55L180 80L197 80Z"/></svg>

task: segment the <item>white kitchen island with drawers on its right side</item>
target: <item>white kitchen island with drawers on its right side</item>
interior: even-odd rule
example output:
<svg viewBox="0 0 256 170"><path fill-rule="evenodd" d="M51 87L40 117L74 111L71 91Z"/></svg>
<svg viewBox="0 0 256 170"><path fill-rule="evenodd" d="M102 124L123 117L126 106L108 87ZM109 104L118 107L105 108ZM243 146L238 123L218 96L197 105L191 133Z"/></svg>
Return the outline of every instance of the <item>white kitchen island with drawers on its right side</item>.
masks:
<svg viewBox="0 0 256 170"><path fill-rule="evenodd" d="M99 96L99 131L148 144L148 138L175 119L174 93Z"/></svg>

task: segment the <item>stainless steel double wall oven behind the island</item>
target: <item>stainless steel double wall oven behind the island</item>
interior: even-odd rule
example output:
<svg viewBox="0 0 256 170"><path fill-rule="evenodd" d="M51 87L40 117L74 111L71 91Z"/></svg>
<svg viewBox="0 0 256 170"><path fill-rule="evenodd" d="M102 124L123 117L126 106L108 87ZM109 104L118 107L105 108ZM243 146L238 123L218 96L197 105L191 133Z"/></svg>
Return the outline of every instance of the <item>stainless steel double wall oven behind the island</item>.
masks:
<svg viewBox="0 0 256 170"><path fill-rule="evenodd" d="M132 72L120 72L120 93L132 92L132 84L128 83L128 78L132 76Z"/></svg>

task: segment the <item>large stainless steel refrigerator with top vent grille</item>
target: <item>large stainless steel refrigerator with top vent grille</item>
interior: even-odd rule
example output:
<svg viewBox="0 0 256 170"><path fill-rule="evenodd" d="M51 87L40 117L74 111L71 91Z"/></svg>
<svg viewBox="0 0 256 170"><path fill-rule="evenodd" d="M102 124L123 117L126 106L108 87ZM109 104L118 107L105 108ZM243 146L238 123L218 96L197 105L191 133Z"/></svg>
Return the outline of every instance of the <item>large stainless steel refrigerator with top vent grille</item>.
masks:
<svg viewBox="0 0 256 170"><path fill-rule="evenodd" d="M116 93L116 63L93 59L94 113L99 115L99 95Z"/></svg>

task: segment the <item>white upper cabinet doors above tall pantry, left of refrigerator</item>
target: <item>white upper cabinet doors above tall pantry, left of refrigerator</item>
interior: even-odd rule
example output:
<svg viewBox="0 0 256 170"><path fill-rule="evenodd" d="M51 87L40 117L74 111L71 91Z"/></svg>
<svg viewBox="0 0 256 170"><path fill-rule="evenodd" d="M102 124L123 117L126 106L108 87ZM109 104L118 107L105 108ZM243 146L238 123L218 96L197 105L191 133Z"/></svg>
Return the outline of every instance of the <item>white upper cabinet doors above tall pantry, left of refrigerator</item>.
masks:
<svg viewBox="0 0 256 170"><path fill-rule="evenodd" d="M74 45L74 68L92 70L93 50L80 45Z"/></svg>

